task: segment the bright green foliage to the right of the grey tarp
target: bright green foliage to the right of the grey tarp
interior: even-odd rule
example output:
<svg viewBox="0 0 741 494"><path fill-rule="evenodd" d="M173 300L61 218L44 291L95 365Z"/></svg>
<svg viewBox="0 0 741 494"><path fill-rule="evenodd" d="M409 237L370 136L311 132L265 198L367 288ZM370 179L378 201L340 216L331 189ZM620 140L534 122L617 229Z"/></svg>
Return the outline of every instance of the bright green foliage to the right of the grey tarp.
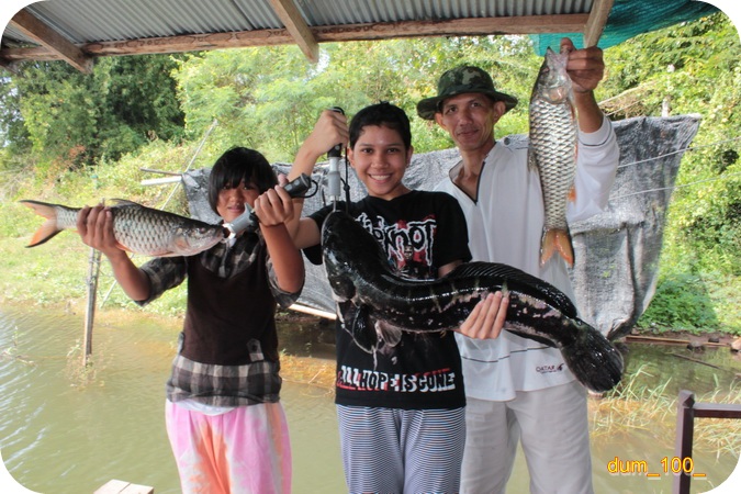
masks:
<svg viewBox="0 0 741 494"><path fill-rule="evenodd" d="M660 284L642 324L708 325L708 311L697 315L700 292L712 300L714 315L739 323L738 295L729 297L723 285L738 289L741 277L740 45L733 24L718 13L606 53L609 77L603 86L616 94L609 103L613 117L658 116L662 108L701 116L682 160Z"/></svg>

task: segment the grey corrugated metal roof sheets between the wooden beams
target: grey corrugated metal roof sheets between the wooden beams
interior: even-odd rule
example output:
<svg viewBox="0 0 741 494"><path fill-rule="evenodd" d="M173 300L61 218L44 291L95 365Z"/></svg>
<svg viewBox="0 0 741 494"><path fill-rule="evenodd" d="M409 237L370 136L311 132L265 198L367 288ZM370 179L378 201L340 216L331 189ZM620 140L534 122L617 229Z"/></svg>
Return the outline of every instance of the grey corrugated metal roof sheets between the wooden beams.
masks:
<svg viewBox="0 0 741 494"><path fill-rule="evenodd" d="M592 0L296 0L310 27L588 13ZM277 30L268 0L47 0L26 10L75 44ZM35 44L9 27L3 43Z"/></svg>

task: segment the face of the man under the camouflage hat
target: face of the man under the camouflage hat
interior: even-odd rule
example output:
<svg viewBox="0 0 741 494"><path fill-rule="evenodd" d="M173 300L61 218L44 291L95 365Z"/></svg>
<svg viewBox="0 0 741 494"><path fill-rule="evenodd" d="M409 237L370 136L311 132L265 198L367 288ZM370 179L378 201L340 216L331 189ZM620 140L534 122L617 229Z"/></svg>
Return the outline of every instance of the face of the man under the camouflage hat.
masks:
<svg viewBox="0 0 741 494"><path fill-rule="evenodd" d="M480 93L458 94L445 100L435 121L461 151L489 153L494 147L494 124L505 111L502 101Z"/></svg>

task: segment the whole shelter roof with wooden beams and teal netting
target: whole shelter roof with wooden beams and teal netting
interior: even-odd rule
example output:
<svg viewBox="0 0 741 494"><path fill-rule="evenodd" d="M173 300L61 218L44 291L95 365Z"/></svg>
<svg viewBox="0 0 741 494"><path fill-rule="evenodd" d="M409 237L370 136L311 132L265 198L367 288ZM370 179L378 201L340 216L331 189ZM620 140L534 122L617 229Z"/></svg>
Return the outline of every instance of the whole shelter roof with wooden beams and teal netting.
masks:
<svg viewBox="0 0 741 494"><path fill-rule="evenodd" d="M562 35L606 48L717 10L695 0L46 0L5 26L0 65L64 59L89 71L99 56L289 43L317 60L318 43L507 33L537 34L538 53Z"/></svg>

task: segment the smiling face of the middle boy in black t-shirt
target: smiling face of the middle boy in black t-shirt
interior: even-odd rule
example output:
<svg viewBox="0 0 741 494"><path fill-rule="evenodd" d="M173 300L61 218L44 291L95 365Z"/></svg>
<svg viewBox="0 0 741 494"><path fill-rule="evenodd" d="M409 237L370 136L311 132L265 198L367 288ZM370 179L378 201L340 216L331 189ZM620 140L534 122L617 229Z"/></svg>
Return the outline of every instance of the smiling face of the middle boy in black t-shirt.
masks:
<svg viewBox="0 0 741 494"><path fill-rule="evenodd" d="M406 148L398 132L367 125L347 156L368 194L388 201L409 191L402 179L413 151L412 147Z"/></svg>

